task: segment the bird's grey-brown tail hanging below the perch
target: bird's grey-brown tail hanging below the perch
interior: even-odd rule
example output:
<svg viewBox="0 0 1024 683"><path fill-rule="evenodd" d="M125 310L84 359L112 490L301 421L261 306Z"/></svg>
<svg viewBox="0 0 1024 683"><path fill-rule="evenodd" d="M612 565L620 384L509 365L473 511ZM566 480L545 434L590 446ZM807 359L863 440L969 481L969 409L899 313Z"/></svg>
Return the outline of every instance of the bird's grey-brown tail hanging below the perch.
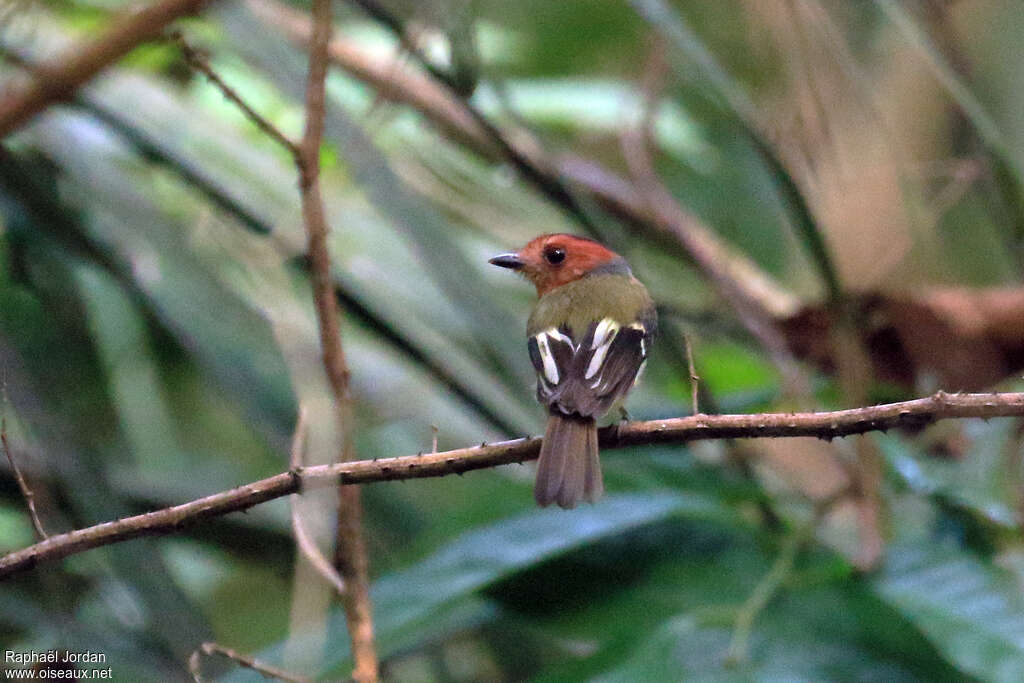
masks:
<svg viewBox="0 0 1024 683"><path fill-rule="evenodd" d="M597 457L597 424L591 418L552 414L541 444L534 498L541 507L557 502L574 508L604 493Z"/></svg>

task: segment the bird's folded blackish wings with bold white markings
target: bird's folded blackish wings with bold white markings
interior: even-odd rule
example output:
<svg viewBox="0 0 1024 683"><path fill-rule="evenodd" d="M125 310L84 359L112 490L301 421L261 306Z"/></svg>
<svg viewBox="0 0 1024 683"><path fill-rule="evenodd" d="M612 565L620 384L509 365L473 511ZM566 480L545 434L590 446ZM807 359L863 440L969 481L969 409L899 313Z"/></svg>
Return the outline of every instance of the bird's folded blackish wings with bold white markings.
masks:
<svg viewBox="0 0 1024 683"><path fill-rule="evenodd" d="M565 327L529 338L537 397L566 415L600 417L632 388L650 349L652 324L592 323L580 339Z"/></svg>

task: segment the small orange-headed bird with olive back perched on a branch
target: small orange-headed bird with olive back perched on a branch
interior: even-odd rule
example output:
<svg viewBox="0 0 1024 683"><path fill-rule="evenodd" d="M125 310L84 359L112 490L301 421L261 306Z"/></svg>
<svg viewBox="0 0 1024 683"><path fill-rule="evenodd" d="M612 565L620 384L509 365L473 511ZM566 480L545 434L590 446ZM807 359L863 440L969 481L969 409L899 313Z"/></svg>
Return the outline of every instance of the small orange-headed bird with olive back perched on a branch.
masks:
<svg viewBox="0 0 1024 683"><path fill-rule="evenodd" d="M618 254L593 240L542 234L489 261L537 288L526 324L537 399L550 417L534 498L574 508L604 490L595 420L625 398L657 327L647 289Z"/></svg>

